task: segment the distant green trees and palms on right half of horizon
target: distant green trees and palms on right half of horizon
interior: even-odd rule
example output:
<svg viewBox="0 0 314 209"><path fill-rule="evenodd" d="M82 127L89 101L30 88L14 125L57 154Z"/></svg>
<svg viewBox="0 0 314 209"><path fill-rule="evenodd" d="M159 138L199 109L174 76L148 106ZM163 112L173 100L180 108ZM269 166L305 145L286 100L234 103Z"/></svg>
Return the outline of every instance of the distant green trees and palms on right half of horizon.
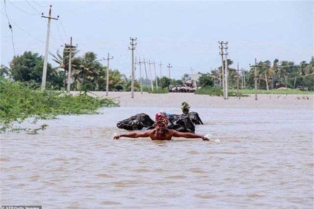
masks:
<svg viewBox="0 0 314 209"><path fill-rule="evenodd" d="M251 67L250 70L240 70L238 72L237 69L229 67L232 64L233 61L228 59L228 87L236 88L236 78L239 77L240 88L254 89L254 67ZM258 65L259 67L256 67L256 71L259 89L275 89L278 84L284 84L287 88L314 90L313 56L309 63L302 61L299 65L291 61L279 61L278 59L275 59L273 63L269 60L261 61ZM197 84L201 87L222 87L221 66L210 73L202 74Z"/></svg>

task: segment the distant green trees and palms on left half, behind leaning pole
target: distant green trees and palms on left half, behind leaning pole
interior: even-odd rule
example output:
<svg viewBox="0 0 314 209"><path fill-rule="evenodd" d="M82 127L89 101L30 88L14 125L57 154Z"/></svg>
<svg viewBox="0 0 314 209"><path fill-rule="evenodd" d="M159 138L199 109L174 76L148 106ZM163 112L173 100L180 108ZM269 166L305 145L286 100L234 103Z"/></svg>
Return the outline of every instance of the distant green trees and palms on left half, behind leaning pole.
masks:
<svg viewBox="0 0 314 209"><path fill-rule="evenodd" d="M65 90L68 81L69 56L66 48L62 53L59 51L52 54L52 60L57 64L52 68L48 63L46 88L52 90ZM106 70L94 52L86 52L77 56L78 51L73 50L71 60L71 90L105 91ZM14 56L9 67L1 65L0 75L5 78L12 78L15 81L28 82L29 86L38 87L42 81L44 57L38 53L24 52L22 55ZM109 69L109 91L131 91L131 77L126 77L117 69ZM182 80L169 79L166 77L157 78L160 88L168 88L170 84L182 84ZM151 80L142 78L145 91L151 91ZM156 86L155 80L153 85ZM140 91L140 80L135 80L134 90Z"/></svg>

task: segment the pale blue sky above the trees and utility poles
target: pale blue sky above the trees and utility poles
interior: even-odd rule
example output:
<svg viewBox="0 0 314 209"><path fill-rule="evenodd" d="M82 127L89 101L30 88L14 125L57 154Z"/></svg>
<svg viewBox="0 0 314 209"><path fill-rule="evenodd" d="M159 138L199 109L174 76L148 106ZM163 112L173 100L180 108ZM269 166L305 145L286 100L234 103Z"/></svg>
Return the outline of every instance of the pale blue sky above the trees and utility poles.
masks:
<svg viewBox="0 0 314 209"><path fill-rule="evenodd" d="M228 41L232 67L277 58L309 62L314 54L314 1L1 1L1 64L15 54L45 54L49 5L52 5L49 51L78 44L79 55L113 56L111 69L131 75L130 37L137 38L135 56L155 61L157 76L181 79L184 73L207 73L221 65L218 41ZM7 16L6 16L7 14ZM52 66L56 64L49 55ZM107 65L107 61L102 61ZM146 65L149 70L149 65ZM139 78L137 66L136 78ZM154 66L151 66L153 77ZM142 76L144 75L142 65Z"/></svg>

